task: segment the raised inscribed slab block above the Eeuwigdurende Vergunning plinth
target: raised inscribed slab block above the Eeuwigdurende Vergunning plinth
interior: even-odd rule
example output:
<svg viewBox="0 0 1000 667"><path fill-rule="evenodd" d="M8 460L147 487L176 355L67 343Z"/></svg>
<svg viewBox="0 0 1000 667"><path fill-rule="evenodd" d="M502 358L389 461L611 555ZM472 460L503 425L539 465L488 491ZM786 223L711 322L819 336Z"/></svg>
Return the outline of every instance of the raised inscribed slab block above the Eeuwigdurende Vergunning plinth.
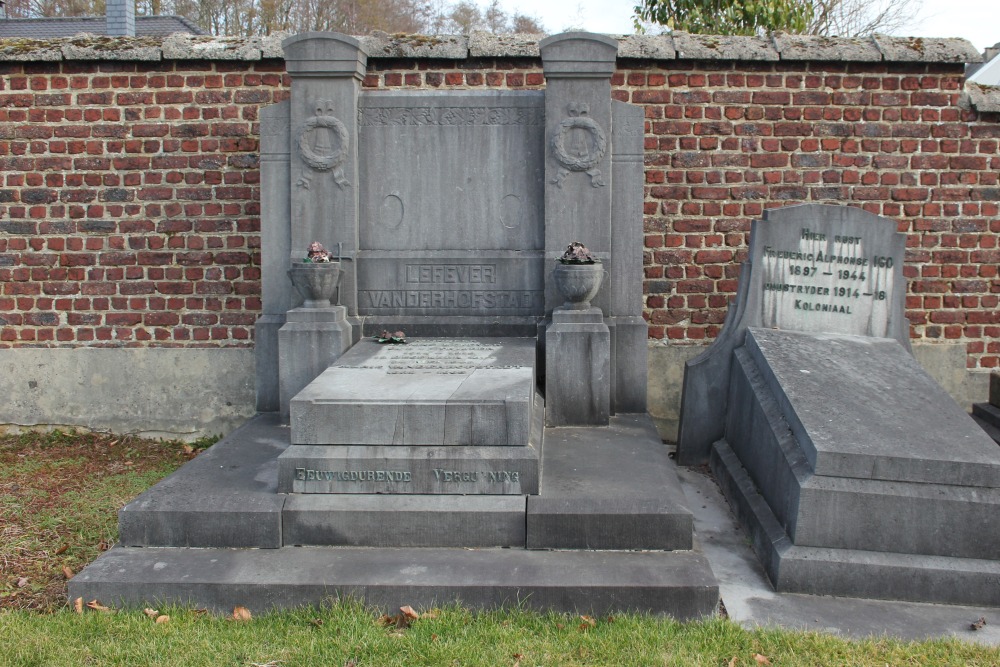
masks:
<svg viewBox="0 0 1000 667"><path fill-rule="evenodd" d="M292 442L523 447L534 364L534 339L363 340L292 399Z"/></svg>

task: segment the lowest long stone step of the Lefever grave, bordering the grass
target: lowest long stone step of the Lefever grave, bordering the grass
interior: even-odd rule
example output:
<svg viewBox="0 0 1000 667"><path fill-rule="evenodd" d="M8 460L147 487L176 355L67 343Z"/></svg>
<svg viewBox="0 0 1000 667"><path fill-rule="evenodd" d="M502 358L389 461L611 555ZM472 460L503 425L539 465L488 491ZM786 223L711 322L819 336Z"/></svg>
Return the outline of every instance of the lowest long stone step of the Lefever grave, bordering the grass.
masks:
<svg viewBox="0 0 1000 667"><path fill-rule="evenodd" d="M718 583L696 552L350 547L115 547L70 580L69 595L219 613L236 605L258 613L349 596L386 610L458 602L597 615L644 610L683 620L712 615L719 602Z"/></svg>

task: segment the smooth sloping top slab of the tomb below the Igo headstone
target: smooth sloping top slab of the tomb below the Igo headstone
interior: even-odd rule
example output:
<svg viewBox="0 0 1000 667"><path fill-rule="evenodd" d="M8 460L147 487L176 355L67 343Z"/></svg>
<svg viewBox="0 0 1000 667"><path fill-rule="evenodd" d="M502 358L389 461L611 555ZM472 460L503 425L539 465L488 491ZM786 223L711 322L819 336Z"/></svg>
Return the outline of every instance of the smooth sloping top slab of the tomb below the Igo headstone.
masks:
<svg viewBox="0 0 1000 667"><path fill-rule="evenodd" d="M1000 487L1000 449L897 341L750 329L746 348L817 475Z"/></svg>

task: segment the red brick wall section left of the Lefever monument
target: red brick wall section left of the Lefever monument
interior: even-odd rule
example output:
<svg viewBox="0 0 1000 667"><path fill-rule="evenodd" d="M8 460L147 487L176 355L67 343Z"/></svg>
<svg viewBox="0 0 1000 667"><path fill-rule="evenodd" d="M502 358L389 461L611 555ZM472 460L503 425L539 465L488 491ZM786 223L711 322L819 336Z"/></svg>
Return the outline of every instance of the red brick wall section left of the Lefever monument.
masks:
<svg viewBox="0 0 1000 667"><path fill-rule="evenodd" d="M0 346L252 345L284 64L0 67Z"/></svg>

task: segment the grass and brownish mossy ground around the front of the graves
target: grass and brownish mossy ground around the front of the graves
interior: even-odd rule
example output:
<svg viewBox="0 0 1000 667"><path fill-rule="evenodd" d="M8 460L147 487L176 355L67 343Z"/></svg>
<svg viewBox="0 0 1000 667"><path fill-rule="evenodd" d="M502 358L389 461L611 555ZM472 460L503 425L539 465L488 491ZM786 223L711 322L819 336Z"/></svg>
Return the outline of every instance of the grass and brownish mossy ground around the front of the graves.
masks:
<svg viewBox="0 0 1000 667"><path fill-rule="evenodd" d="M117 537L117 510L196 456L194 444L110 434L0 438L0 665L995 665L959 639L849 641L717 617L589 617L457 606L384 615L356 601L218 617L67 603L66 579ZM78 608L75 608L78 607Z"/></svg>

